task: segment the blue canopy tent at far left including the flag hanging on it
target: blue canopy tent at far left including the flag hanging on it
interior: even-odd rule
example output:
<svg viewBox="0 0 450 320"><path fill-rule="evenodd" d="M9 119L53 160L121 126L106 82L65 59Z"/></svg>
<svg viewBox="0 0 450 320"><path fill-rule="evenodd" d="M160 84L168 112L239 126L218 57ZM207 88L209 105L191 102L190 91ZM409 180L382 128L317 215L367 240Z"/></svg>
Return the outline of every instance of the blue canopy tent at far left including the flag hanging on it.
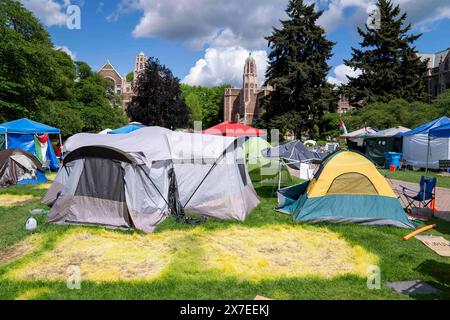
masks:
<svg viewBox="0 0 450 320"><path fill-rule="evenodd" d="M57 128L32 121L19 119L0 124L0 149L21 149L34 155L41 163L49 162L51 170L58 170L59 163L53 150L49 134L59 135Z"/></svg>

